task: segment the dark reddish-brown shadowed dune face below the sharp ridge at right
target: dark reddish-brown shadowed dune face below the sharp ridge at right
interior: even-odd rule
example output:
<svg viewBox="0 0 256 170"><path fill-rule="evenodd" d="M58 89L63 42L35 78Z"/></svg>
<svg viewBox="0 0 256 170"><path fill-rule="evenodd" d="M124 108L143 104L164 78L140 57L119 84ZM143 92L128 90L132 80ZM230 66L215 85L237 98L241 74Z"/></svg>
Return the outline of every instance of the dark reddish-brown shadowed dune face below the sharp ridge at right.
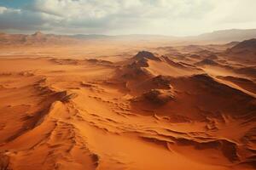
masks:
<svg viewBox="0 0 256 170"><path fill-rule="evenodd" d="M150 89L139 94L140 97L133 100L133 106L153 107L160 115L172 116L178 113L180 116L189 116L192 120L220 118L223 114L239 117L250 113L253 116L256 109L253 96L217 82L207 75L168 79L169 82L162 81L157 85L152 80L141 83L137 89ZM226 96L232 100L226 99Z"/></svg>

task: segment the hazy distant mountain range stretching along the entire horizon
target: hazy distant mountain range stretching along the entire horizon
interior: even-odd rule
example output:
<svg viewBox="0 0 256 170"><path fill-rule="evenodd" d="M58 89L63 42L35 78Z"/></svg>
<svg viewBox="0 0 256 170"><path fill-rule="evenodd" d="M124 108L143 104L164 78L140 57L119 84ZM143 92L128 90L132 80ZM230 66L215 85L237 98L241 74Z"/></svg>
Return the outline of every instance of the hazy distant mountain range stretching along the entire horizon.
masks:
<svg viewBox="0 0 256 170"><path fill-rule="evenodd" d="M177 43L227 43L235 45L246 39L256 38L256 29L250 30L223 30L213 31L193 37L172 37L163 35L118 35L109 36L102 34L76 34L55 35L44 34L40 31L32 35L0 33L0 45L34 45L34 44L73 44L90 40L114 40L114 41L137 41L137 42L177 42Z"/></svg>

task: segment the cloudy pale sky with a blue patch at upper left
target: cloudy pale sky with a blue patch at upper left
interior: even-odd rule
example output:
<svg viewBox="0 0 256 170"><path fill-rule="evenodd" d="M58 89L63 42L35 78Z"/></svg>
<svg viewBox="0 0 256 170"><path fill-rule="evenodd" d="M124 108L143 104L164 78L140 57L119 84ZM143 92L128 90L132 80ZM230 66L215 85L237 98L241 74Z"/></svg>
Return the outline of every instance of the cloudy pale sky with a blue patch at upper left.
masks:
<svg viewBox="0 0 256 170"><path fill-rule="evenodd" d="M256 28L256 0L0 0L0 31L192 36Z"/></svg>

